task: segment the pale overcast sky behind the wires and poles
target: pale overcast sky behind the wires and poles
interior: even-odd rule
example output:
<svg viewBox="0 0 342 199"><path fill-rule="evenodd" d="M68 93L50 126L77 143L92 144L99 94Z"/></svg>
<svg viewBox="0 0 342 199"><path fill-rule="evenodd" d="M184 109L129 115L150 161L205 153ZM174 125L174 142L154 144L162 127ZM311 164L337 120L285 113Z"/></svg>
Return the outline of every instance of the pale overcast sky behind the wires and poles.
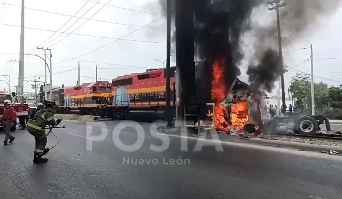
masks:
<svg viewBox="0 0 342 199"><path fill-rule="evenodd" d="M80 61L81 66L81 83L95 81L96 65L98 66L98 80L101 78L104 81L111 81L111 79L119 75L144 72L147 68L162 67L162 63L155 61L155 59L161 61L166 59L166 23L164 18L160 16L160 13L151 14L152 11L145 6L147 0L111 0L107 6L102 4L106 4L109 0L100 0L99 3L102 4L96 4L95 6L94 4L98 0L91 0L93 3L88 2L75 16L81 17L94 6L83 17L91 17L91 19L95 20L88 20L86 22L87 19L74 17L63 26L87 1L25 0L25 7L27 8L25 9L25 27L27 27L25 29L25 53L38 54L43 57L43 52L36 49L38 45L39 47L52 49L54 86L61 86L62 84L66 86L76 85L78 61ZM4 5L2 3L12 5ZM0 22L2 23L0 25L0 71L2 74L10 75L11 89L14 89L14 86L18 84L18 62L7 62L7 60L19 60L20 5L21 0L0 0ZM98 10L100 11L92 17ZM329 85L341 84L342 67L340 67L340 62L342 59L319 60L342 57L339 51L342 44L340 42L342 35L341 27L340 25L336 26L336 24L340 24L339 21L342 18L341 11L340 9L336 16L332 16L329 19L322 19L322 23L313 29L306 39L296 40L293 38L294 42L292 45L284 49L285 64L294 68L290 69L289 73L285 75L286 85L290 81L291 76L295 75L296 70L297 72L299 70L310 73L309 50L300 50L310 47L310 44L313 44L314 60L317 60L314 61L315 81L323 81ZM268 12L268 15L275 17L275 12ZM257 16L260 18L258 20L267 19L265 19L265 16L260 16L260 14L257 14ZM84 25L82 25L83 23ZM71 28L69 28L70 26ZM141 28L143 26L144 28ZM57 31L61 28L59 31L65 31L65 33L71 33L78 29L74 34L64 33L60 35L61 33L54 34L52 31L30 28L52 31ZM129 34L131 32L133 33ZM54 35L51 37L52 34ZM93 35L96 37L75 34ZM129 35L124 37L127 34ZM282 32L282 34L288 33ZM51 38L48 39L49 37ZM64 37L65 39L63 39ZM122 39L115 40L119 38ZM45 41L47 39L48 41ZM88 53L110 42L113 43ZM88 54L77 57L85 53ZM40 81L44 81L43 60L34 56L25 56L24 63L25 80L32 80L36 76L37 78L40 77ZM174 65L174 63L172 62L171 65ZM244 73L246 66L241 66L241 68ZM0 78L0 80L6 81L4 76ZM48 76L48 83L49 78ZM247 76L244 74L240 78L247 81ZM32 83L24 83L25 92L34 92L30 84ZM7 89L8 86L0 81L0 90L3 88Z"/></svg>

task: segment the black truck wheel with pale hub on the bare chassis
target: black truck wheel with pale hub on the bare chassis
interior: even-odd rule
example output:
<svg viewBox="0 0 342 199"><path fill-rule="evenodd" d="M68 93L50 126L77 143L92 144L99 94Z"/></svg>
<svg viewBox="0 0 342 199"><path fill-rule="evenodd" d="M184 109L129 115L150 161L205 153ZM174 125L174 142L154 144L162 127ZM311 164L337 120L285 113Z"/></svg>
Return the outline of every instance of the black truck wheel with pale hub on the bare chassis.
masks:
<svg viewBox="0 0 342 199"><path fill-rule="evenodd" d="M302 135L314 135L317 132L318 123L313 117L302 115L295 119L294 132Z"/></svg>

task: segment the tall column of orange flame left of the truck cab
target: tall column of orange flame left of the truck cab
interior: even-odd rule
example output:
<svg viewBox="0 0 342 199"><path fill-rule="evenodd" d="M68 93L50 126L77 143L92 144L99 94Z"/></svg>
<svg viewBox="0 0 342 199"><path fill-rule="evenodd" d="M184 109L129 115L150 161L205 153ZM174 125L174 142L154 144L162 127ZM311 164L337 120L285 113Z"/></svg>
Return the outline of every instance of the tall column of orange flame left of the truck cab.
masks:
<svg viewBox="0 0 342 199"><path fill-rule="evenodd" d="M211 99L215 105L215 127L216 129L229 131L230 126L225 119L226 107L220 101L227 97L227 87L224 80L225 60L215 61L213 64L213 81L211 87Z"/></svg>

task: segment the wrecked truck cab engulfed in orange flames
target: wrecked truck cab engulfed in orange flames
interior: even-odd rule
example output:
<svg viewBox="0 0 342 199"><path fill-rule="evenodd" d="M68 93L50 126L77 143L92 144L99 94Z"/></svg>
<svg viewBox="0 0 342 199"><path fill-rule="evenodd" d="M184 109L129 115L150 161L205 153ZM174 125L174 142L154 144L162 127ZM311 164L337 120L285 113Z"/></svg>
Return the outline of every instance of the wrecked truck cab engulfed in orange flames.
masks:
<svg viewBox="0 0 342 199"><path fill-rule="evenodd" d="M224 60L215 61L212 65L206 60L196 66L196 85L201 90L197 92L197 101L215 103L215 110L208 112L215 114L217 130L258 133L262 125L259 96L237 77L228 87L224 69ZM205 110L200 114L206 115Z"/></svg>

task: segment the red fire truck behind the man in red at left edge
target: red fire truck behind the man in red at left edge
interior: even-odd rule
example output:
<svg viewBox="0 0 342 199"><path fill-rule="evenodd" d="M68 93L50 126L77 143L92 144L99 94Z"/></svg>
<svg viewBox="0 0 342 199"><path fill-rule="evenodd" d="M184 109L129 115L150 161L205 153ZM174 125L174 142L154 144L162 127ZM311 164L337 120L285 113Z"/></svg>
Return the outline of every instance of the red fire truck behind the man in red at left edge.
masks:
<svg viewBox="0 0 342 199"><path fill-rule="evenodd" d="M5 106L3 104L4 100L11 100L12 107L14 108L17 116L28 115L28 104L26 103L25 96L15 96L15 93L12 94L7 93L6 91L0 91L0 118L3 115L5 110ZM16 130L17 121L13 121L14 125L11 127L11 131ZM0 124L0 128L2 128L2 124Z"/></svg>

